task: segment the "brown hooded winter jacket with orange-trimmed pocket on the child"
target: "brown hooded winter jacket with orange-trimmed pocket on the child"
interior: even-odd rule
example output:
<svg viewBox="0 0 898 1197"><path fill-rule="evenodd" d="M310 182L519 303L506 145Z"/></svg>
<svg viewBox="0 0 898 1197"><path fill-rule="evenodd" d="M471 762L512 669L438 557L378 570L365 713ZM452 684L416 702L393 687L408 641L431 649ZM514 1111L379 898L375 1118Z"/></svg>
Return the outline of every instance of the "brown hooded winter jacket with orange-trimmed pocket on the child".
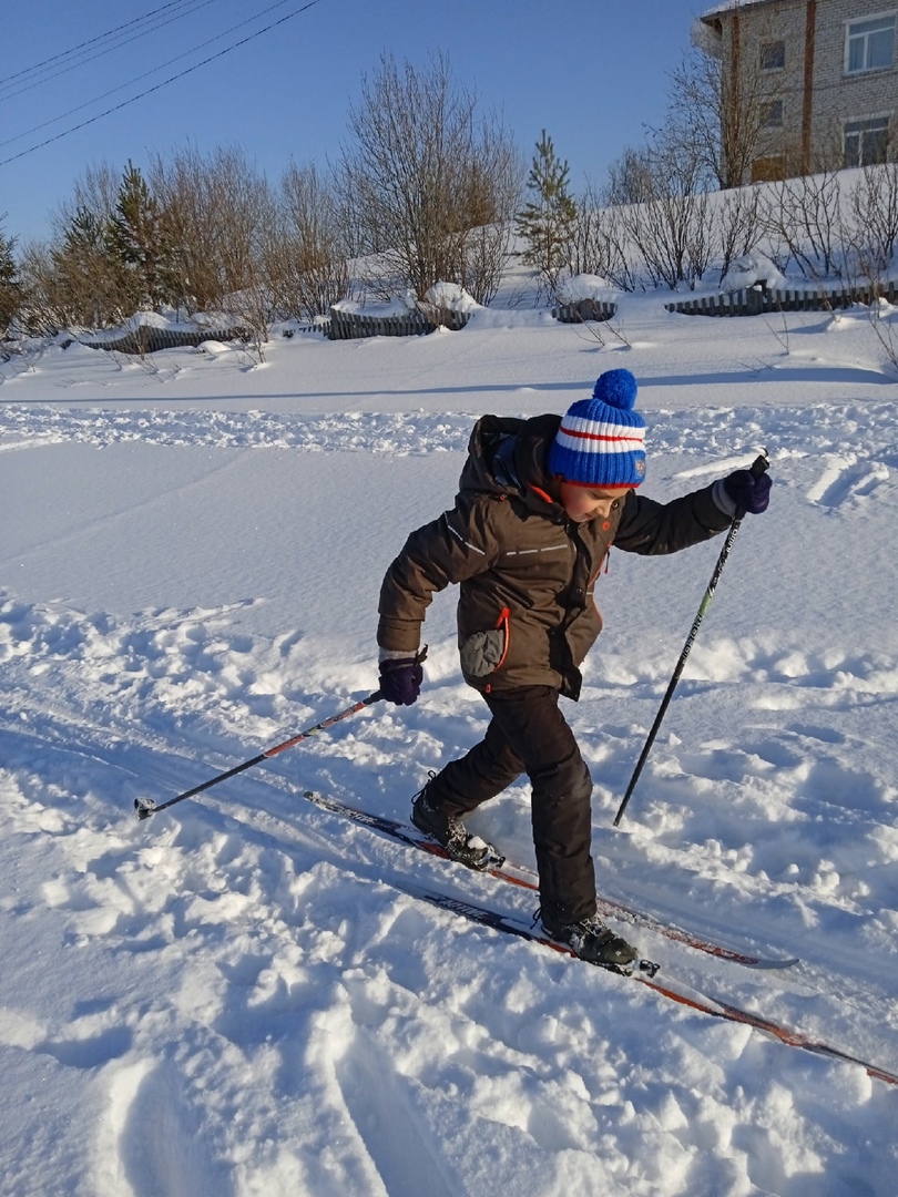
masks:
<svg viewBox="0 0 898 1197"><path fill-rule="evenodd" d="M456 583L471 686L552 686L576 699L578 667L602 630L593 588L611 545L675 553L729 527L710 486L665 504L629 491L608 519L574 523L546 473L559 424L478 420L455 506L412 533L383 579L382 649L413 655L435 591Z"/></svg>

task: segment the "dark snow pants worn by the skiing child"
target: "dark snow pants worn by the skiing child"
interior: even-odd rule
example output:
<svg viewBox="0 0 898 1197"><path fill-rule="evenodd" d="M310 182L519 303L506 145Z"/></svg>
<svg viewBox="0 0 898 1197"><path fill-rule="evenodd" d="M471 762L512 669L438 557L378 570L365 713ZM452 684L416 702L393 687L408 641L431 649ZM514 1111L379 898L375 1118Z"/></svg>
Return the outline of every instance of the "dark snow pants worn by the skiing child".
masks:
<svg viewBox="0 0 898 1197"><path fill-rule="evenodd" d="M450 761L427 794L441 810L463 818L527 773L542 918L554 929L576 923L595 913L593 779L558 709L558 691L526 686L484 698L492 715L486 735Z"/></svg>

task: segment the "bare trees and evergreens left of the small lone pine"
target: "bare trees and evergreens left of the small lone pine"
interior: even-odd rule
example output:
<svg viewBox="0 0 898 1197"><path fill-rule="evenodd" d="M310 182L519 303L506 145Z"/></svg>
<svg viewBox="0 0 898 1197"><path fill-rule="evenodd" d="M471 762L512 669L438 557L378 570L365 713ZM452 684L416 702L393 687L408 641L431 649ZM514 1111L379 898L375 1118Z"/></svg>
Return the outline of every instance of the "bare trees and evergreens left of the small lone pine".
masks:
<svg viewBox="0 0 898 1197"><path fill-rule="evenodd" d="M158 153L146 171L87 170L49 242L18 262L14 242L0 242L0 320L48 334L141 309L216 311L263 335L274 318L328 312L352 285L423 298L439 281L487 304L522 176L506 127L480 115L445 59L418 69L384 55L327 170L291 164L273 184L239 148L194 147Z"/></svg>

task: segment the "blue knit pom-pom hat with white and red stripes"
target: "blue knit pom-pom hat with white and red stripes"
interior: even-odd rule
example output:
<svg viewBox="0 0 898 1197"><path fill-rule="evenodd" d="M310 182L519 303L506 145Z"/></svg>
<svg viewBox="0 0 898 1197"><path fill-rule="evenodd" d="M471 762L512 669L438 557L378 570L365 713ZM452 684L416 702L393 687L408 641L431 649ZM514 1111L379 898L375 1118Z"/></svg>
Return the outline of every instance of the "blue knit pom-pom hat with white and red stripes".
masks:
<svg viewBox="0 0 898 1197"><path fill-rule="evenodd" d="M548 472L575 486L638 486L645 478L645 421L633 411L629 370L600 376L591 399L568 409L548 450Z"/></svg>

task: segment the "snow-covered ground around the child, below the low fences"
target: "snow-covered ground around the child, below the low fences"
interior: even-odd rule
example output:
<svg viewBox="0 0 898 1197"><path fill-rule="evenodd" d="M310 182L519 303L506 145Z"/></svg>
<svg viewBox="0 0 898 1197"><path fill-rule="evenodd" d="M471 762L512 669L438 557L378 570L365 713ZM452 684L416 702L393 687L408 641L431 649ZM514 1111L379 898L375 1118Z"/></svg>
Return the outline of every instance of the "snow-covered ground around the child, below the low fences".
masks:
<svg viewBox="0 0 898 1197"><path fill-rule="evenodd" d="M483 731L451 595L414 707L133 810L370 693L382 575L450 505L474 419L563 412L626 365L648 493L762 445L775 485L620 830L722 541L612 553L565 706L600 889L799 955L750 971L617 924L662 977L898 1070L896 314L878 336L860 308L618 299L589 327L496 306L420 338L275 330L262 363L73 344L0 365L5 1197L894 1192L894 1087L426 906L394 882L535 904L303 800L405 818ZM532 864L523 784L472 830Z"/></svg>

